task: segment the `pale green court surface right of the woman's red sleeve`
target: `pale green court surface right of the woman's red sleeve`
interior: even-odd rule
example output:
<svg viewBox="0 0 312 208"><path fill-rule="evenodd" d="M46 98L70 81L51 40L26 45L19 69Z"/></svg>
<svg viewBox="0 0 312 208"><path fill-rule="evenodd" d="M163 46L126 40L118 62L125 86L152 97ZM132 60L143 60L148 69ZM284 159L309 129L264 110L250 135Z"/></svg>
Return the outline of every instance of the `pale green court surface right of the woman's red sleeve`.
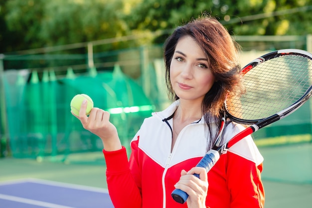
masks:
<svg viewBox="0 0 312 208"><path fill-rule="evenodd" d="M260 147L265 208L311 208L312 144Z"/></svg>

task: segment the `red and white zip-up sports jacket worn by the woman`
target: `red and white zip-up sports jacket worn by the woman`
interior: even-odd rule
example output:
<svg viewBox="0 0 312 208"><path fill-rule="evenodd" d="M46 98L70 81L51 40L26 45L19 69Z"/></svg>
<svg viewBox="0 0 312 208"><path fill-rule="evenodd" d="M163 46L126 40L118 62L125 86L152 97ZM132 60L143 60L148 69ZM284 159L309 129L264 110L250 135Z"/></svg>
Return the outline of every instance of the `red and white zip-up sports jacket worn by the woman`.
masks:
<svg viewBox="0 0 312 208"><path fill-rule="evenodd" d="M172 114L179 102L144 120L131 142L128 161L125 147L107 152L107 183L115 208L187 208L171 198L181 170L195 167L207 152L209 133L204 119L179 133L171 152ZM230 123L224 139L244 127ZM208 172L208 208L263 208L261 182L263 157L251 136L233 145Z"/></svg>

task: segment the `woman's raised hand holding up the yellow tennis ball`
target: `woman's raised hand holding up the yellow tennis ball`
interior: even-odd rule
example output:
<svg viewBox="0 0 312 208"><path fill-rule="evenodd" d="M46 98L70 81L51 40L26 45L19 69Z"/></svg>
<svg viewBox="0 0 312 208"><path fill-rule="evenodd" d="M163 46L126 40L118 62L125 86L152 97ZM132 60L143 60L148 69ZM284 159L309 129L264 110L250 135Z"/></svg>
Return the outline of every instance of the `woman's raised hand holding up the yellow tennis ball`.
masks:
<svg viewBox="0 0 312 208"><path fill-rule="evenodd" d="M87 109L87 100L84 100L81 104L78 118L86 130L97 135L101 138L104 149L106 151L115 151L122 148L120 139L118 137L116 127L109 121L110 114L99 108L92 108L89 117L85 112Z"/></svg>

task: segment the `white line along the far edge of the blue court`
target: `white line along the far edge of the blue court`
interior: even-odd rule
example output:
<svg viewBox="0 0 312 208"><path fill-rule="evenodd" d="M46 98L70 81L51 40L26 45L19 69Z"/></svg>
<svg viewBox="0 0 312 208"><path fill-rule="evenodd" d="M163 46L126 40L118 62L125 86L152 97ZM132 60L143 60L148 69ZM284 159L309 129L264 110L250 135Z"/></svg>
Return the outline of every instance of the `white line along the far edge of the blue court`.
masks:
<svg viewBox="0 0 312 208"><path fill-rule="evenodd" d="M54 181L48 181L48 180L43 180L43 179L33 179L33 178L6 181L6 182L0 183L0 186L1 185L11 185L11 184L21 184L21 183L26 183L26 182L32 182L32 183L50 185L50 186L55 186L55 187L64 187L64 188L70 188L70 189L76 189L76 190L85 190L85 191L90 191L90 192L99 192L99 193L108 194L107 189L102 189L102 188L97 188L97 187L89 187L89 186L83 186L83 185L76 185L76 184L68 184L68 183L62 183L62 182L54 182Z"/></svg>

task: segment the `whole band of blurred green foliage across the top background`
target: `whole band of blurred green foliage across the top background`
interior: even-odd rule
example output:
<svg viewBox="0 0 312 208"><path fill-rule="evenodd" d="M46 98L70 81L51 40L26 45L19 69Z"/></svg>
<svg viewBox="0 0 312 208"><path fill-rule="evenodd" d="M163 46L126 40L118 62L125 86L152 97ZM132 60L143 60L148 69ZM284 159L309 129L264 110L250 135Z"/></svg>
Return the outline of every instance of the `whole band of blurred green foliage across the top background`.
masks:
<svg viewBox="0 0 312 208"><path fill-rule="evenodd" d="M138 38L95 50L163 43L173 28L203 12L234 35L312 33L312 0L0 0L0 53L125 35ZM162 35L153 40L156 31Z"/></svg>

